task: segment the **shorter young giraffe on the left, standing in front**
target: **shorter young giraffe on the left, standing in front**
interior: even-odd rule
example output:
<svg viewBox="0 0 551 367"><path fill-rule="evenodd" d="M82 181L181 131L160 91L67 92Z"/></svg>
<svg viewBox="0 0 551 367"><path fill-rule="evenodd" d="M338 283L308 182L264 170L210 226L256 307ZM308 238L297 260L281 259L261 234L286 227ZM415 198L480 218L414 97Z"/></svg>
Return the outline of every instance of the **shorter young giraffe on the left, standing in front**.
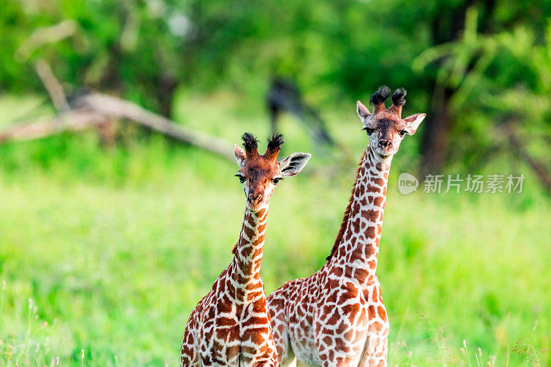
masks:
<svg viewBox="0 0 551 367"><path fill-rule="evenodd" d="M258 141L242 136L236 176L245 191L245 218L233 260L211 291L191 312L180 350L181 366L278 366L260 265L268 209L273 189L284 177L298 174L310 154L295 153L278 161L284 143L281 134L268 140L266 153Z"/></svg>

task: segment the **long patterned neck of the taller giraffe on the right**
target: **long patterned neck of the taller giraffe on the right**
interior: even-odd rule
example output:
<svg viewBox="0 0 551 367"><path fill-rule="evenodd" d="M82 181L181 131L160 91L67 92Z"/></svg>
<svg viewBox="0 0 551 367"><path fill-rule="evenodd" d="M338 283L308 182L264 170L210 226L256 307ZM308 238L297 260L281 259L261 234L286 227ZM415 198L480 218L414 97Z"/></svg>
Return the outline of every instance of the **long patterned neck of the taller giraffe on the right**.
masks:
<svg viewBox="0 0 551 367"><path fill-rule="evenodd" d="M346 277L364 285L375 280L391 160L392 157L383 160L373 153L371 146L367 147L342 240L333 256L333 263Z"/></svg>

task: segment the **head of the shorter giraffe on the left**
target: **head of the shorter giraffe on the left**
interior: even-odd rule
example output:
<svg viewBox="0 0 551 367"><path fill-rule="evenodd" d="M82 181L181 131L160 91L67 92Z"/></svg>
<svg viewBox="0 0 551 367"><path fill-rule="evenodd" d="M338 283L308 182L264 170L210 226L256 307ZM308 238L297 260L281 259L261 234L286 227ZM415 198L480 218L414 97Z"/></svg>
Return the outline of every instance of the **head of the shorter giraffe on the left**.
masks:
<svg viewBox="0 0 551 367"><path fill-rule="evenodd" d="M250 211L259 211L269 204L273 189L284 177L298 174L311 155L308 153L293 153L284 160L278 161L278 154L284 143L281 134L273 134L268 139L266 153L258 153L258 140L245 133L242 136L245 151L236 144L236 160L239 171L236 176L243 184L245 205Z"/></svg>

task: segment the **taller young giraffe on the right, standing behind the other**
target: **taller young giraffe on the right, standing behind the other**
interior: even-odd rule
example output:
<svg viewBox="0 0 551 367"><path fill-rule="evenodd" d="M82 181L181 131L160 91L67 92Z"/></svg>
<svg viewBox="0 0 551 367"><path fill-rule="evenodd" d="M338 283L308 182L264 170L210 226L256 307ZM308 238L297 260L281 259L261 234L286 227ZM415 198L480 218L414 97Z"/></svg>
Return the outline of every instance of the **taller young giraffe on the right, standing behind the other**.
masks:
<svg viewBox="0 0 551 367"><path fill-rule="evenodd" d="M371 96L373 113L357 101L369 142L349 206L327 262L310 277L285 283L268 297L281 366L386 366L389 323L377 259L386 186L393 155L425 114L402 118L406 91L388 87Z"/></svg>

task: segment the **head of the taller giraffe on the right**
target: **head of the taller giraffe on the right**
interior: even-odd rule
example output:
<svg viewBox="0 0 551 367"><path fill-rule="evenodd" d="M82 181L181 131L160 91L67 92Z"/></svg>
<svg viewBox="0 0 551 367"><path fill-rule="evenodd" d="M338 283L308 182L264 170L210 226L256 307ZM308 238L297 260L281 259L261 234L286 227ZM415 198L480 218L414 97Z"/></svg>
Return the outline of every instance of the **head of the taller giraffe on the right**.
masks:
<svg viewBox="0 0 551 367"><path fill-rule="evenodd" d="M380 159L393 156L398 151L404 136L415 134L417 127L426 116L426 114L415 114L402 118L406 90L397 89L392 96L392 106L387 109L384 101L390 95L391 90L383 85L371 96L369 103L373 105L373 114L360 101L357 101L357 114L369 137L369 145L375 156Z"/></svg>

